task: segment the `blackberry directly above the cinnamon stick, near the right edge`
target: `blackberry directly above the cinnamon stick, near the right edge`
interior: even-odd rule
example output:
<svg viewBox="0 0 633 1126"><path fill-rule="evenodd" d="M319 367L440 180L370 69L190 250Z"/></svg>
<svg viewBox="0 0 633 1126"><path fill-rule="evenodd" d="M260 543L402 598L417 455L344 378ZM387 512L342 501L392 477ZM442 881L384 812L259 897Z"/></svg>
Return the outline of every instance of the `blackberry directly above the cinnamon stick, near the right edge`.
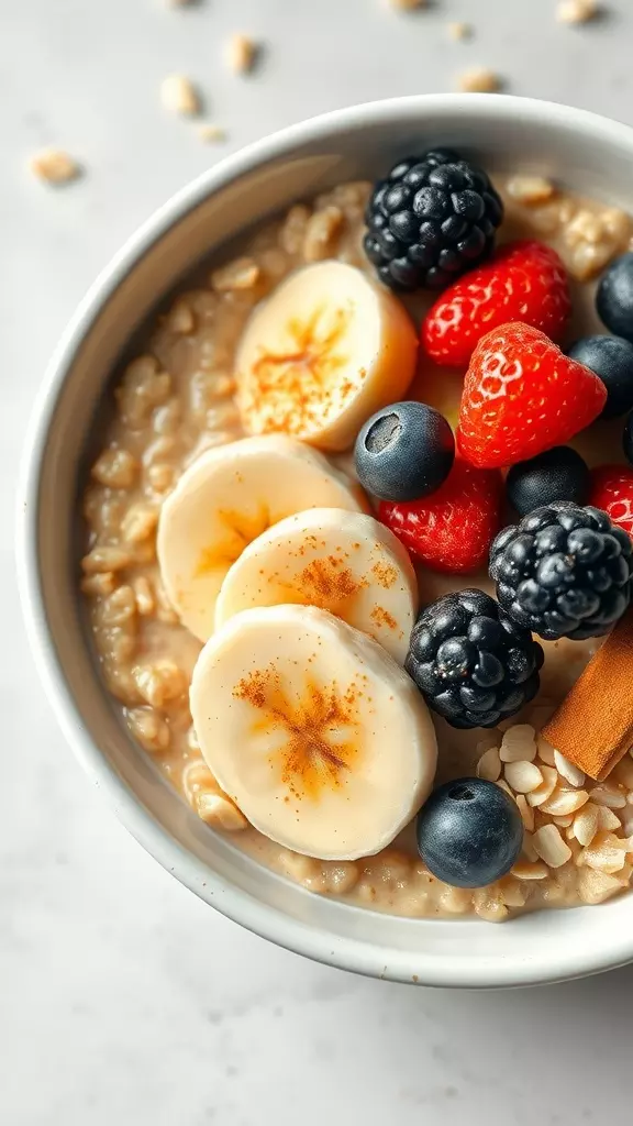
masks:
<svg viewBox="0 0 633 1126"><path fill-rule="evenodd" d="M601 637L631 599L632 544L598 508L555 501L500 531L490 548L497 597L546 641Z"/></svg>

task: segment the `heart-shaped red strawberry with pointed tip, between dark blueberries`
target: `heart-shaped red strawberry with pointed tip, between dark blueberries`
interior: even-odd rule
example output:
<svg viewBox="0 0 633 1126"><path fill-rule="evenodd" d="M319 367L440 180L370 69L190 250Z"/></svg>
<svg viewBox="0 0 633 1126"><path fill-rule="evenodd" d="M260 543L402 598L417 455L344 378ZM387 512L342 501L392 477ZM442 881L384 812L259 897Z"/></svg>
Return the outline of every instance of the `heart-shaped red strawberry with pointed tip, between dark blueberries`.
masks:
<svg viewBox="0 0 633 1126"><path fill-rule="evenodd" d="M480 468L563 446L601 412L607 390L529 324L502 324L478 343L460 404L458 448Z"/></svg>

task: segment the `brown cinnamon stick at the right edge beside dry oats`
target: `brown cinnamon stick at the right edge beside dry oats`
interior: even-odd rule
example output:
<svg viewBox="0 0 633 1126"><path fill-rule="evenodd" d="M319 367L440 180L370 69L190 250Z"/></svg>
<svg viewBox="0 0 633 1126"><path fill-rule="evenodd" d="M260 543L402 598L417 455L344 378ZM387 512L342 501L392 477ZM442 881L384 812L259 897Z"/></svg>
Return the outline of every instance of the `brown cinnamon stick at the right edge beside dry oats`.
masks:
<svg viewBox="0 0 633 1126"><path fill-rule="evenodd" d="M609 634L550 723L549 743L601 781L633 747L633 610Z"/></svg>

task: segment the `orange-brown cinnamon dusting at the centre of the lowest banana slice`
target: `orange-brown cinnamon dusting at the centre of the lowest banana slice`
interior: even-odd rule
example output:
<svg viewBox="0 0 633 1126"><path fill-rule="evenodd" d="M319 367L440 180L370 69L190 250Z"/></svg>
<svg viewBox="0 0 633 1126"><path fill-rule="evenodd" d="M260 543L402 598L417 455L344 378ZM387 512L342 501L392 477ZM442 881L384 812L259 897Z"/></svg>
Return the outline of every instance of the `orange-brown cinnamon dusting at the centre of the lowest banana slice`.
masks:
<svg viewBox="0 0 633 1126"><path fill-rule="evenodd" d="M321 686L306 677L304 692L296 700L270 663L243 677L232 695L262 713L252 725L253 733L284 731L286 740L270 753L270 762L295 798L316 801L323 790L345 784L362 750L358 700L363 694L356 683L341 692L336 680ZM348 738L332 741L332 733L341 729Z"/></svg>

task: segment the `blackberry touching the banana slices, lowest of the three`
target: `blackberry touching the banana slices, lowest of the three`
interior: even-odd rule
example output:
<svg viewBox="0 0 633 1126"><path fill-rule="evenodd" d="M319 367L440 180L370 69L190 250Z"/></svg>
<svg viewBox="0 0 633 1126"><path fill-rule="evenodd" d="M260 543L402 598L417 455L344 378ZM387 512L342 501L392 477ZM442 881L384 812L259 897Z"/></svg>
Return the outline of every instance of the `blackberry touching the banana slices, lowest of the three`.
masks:
<svg viewBox="0 0 633 1126"><path fill-rule="evenodd" d="M453 727L496 727L540 687L543 650L482 590L444 595L420 614L405 668Z"/></svg>

